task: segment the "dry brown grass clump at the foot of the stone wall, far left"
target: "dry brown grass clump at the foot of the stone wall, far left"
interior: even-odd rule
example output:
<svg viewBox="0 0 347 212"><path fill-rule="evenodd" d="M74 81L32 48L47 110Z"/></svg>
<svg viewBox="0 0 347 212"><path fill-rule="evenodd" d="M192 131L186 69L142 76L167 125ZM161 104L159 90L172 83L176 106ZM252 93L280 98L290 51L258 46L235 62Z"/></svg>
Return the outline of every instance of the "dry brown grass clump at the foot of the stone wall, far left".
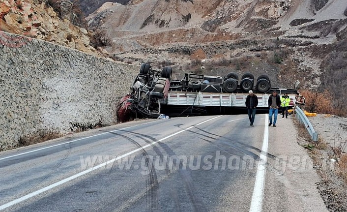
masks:
<svg viewBox="0 0 347 212"><path fill-rule="evenodd" d="M38 144L45 141L49 141L52 139L56 139L61 137L62 134L57 131L51 130L42 130L36 133L35 135L27 135L19 137L19 145L20 146L29 146L32 144Z"/></svg>

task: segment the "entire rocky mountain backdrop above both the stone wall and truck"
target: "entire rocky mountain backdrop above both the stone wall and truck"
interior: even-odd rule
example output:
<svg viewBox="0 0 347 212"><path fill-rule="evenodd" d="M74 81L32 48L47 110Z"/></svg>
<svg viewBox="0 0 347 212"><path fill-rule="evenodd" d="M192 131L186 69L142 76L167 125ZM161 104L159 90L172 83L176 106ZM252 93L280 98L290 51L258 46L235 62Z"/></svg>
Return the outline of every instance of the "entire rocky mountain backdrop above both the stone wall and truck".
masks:
<svg viewBox="0 0 347 212"><path fill-rule="evenodd" d="M279 87L299 80L302 89L330 91L347 113L346 0L112 1L2 0L0 30L116 61L171 65L177 78L233 71L266 73ZM78 6L90 13L87 26L75 23L83 20L71 11ZM96 35L98 51L90 45Z"/></svg>

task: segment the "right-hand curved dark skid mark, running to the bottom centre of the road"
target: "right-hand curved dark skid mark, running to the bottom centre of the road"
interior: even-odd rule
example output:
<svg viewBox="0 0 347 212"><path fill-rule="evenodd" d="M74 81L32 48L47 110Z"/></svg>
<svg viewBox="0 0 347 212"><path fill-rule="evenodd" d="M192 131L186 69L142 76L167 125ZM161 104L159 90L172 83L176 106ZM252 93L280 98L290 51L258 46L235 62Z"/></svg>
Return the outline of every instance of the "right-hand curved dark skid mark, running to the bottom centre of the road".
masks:
<svg viewBox="0 0 347 212"><path fill-rule="evenodd" d="M130 132L130 131L126 131L126 130L122 130L125 132L128 132L130 134L136 134L139 136L143 136L145 138L148 138L150 140L152 140L153 142L157 142L157 144L159 144L159 146L169 155L169 156L175 156L176 153L165 143L160 142L159 140L157 140L156 138L153 138L151 136L145 135L145 134L141 134L141 133L136 133L136 132ZM188 131L188 130L187 130ZM202 201L201 198L199 198L197 196L198 192L195 189L194 185L193 185L193 180L190 177L190 174L187 170L182 170L183 164L181 161L179 161L179 168L178 168L178 175L179 177L182 179L182 181L184 182L184 187L188 193L188 198L190 200L190 203L192 204L194 211L196 212L206 212L207 209ZM175 200L176 202L176 200ZM177 200L178 202L178 200ZM179 203L178 203L179 205Z"/></svg>

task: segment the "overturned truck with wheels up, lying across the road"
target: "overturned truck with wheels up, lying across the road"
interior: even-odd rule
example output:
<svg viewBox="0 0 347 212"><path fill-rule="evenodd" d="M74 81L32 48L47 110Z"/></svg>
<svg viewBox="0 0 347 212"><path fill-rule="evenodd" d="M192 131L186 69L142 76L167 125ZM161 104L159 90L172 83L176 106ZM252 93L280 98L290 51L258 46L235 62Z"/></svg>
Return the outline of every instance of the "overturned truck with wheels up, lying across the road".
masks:
<svg viewBox="0 0 347 212"><path fill-rule="evenodd" d="M288 93L289 108L294 106L294 89L272 88L270 78L245 73L239 79L236 73L227 76L207 76L186 73L181 80L172 80L172 68L154 69L143 63L131 92L121 98L117 107L118 121L132 118L158 118L169 116L197 116L207 114L231 114L245 109L248 91L258 96L258 109L267 109L267 99L272 91L280 95Z"/></svg>

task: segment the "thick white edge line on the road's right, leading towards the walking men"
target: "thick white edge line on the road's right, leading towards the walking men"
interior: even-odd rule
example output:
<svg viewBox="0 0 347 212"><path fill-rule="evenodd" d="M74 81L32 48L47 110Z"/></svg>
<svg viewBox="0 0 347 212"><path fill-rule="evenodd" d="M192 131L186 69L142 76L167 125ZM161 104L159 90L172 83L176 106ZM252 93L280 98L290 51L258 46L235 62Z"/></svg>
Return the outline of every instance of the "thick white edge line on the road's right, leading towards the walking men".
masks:
<svg viewBox="0 0 347 212"><path fill-rule="evenodd" d="M265 114L265 128L264 128L264 138L262 141L260 160L258 163L258 171L256 176L256 183L254 185L252 202L250 212L261 212L262 200L264 197L265 188L265 174L266 174L266 162L267 162L267 147L269 141L269 127L267 122L267 114Z"/></svg>

